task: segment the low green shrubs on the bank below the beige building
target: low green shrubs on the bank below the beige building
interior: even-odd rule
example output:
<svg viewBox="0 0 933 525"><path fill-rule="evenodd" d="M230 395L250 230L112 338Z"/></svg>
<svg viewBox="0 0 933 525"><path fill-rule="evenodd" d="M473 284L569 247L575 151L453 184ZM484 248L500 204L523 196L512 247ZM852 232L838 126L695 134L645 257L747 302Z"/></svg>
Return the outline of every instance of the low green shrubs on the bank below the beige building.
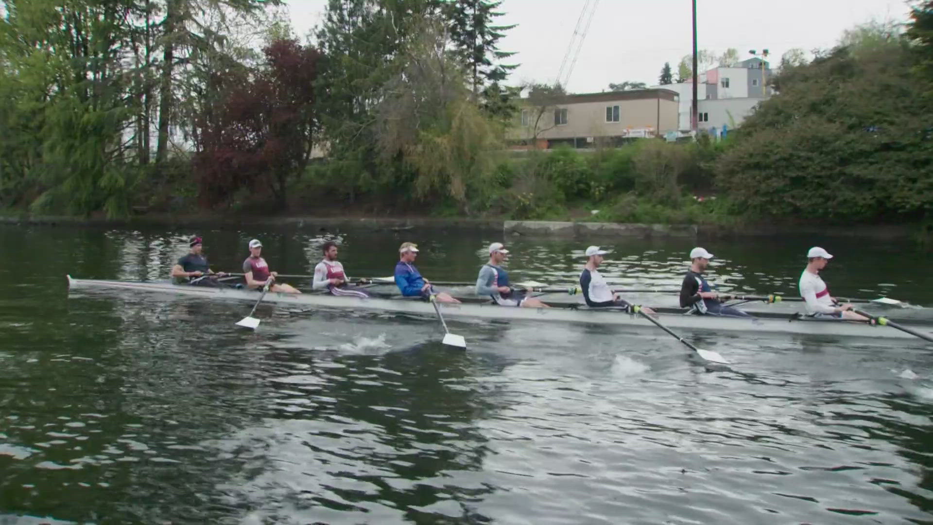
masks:
<svg viewBox="0 0 933 525"><path fill-rule="evenodd" d="M596 151L564 147L499 153L499 161L481 178L481 185L467 186L465 199L441 195L425 208L425 215L429 211L438 216L516 220L731 223L739 214L727 199L703 197L713 190L711 160L723 148L724 144L703 138L689 144L640 140ZM338 195L373 210L407 209L402 202L382 207L378 200L367 200L363 195L369 188L350 194L341 187L346 170L340 162L314 165L296 182L294 194ZM372 188L378 192L376 184ZM417 206L416 200L412 203Z"/></svg>

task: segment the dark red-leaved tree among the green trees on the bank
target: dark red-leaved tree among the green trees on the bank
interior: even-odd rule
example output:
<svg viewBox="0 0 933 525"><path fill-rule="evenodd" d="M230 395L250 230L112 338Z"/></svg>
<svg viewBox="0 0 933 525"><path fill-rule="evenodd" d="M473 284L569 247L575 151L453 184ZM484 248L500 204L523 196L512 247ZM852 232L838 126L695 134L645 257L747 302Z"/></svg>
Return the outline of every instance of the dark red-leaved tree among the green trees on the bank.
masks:
<svg viewBox="0 0 933 525"><path fill-rule="evenodd" d="M314 80L320 53L297 40L276 39L249 78L219 81L227 95L199 116L194 171L202 206L230 203L240 190L286 206L288 181L307 166L317 132Z"/></svg>

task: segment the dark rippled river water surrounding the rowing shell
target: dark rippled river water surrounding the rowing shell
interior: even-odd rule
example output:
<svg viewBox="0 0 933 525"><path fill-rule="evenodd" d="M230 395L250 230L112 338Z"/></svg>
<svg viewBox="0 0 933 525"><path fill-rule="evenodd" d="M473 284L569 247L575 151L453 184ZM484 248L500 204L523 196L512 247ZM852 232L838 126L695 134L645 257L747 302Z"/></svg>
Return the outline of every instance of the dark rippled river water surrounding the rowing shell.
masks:
<svg viewBox="0 0 933 525"><path fill-rule="evenodd" d="M341 242L351 276L398 244L474 279L494 234L0 227L0 524L933 523L933 364L921 341L664 333L536 322L439 326L367 312L75 291L158 279L202 234L239 271ZM513 278L570 284L588 243L507 239ZM620 241L605 274L676 288L693 241ZM928 305L933 257L831 239L705 242L726 288L794 293L819 243L834 294ZM304 284L293 281L294 284ZM880 330L886 330L881 329Z"/></svg>

